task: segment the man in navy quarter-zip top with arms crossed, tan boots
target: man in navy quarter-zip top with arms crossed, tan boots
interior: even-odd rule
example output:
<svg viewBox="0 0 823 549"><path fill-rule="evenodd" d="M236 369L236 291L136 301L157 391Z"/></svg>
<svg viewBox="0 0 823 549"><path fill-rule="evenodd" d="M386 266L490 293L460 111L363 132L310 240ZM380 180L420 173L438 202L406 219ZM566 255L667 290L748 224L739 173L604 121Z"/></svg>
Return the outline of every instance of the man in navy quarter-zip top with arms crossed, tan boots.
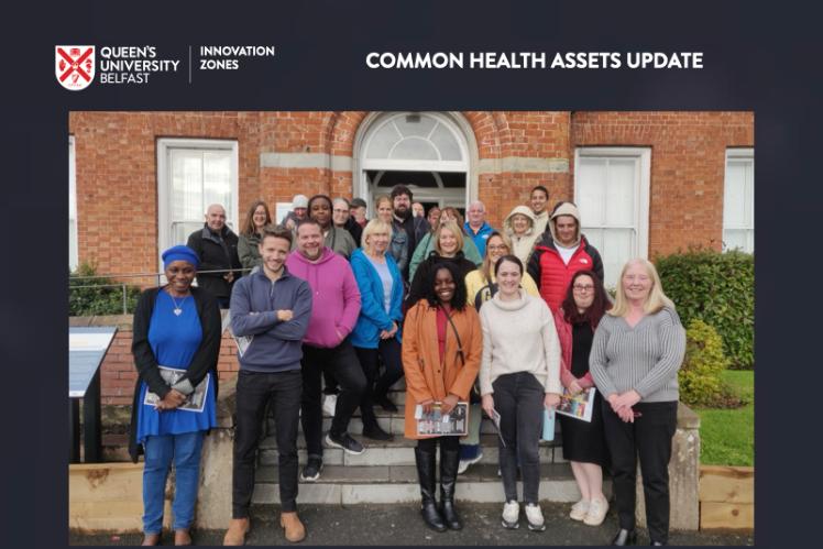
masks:
<svg viewBox="0 0 823 549"><path fill-rule="evenodd" d="M289 541L306 537L297 516L297 426L301 343L311 317L311 288L286 268L290 248L292 231L266 229L260 242L263 268L240 278L231 294L231 330L248 347L238 353L232 519L223 545L243 545L250 529L254 462L270 400L279 454L281 526Z"/></svg>

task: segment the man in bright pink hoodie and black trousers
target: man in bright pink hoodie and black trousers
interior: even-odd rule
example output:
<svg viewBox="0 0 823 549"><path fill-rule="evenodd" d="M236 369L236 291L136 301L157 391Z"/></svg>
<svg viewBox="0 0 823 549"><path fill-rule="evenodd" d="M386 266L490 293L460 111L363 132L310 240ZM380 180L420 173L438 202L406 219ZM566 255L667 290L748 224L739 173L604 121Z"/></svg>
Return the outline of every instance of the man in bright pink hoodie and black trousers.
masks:
<svg viewBox="0 0 823 549"><path fill-rule="evenodd" d="M349 262L323 246L320 224L311 219L297 226L297 249L288 255L286 267L311 287L311 319L303 339L300 416L308 461L300 476L304 481L316 481L322 470L320 380L323 370L333 374L341 388L326 444L352 454L364 451L363 444L348 432L349 421L366 385L363 369L349 341L360 315L360 289Z"/></svg>

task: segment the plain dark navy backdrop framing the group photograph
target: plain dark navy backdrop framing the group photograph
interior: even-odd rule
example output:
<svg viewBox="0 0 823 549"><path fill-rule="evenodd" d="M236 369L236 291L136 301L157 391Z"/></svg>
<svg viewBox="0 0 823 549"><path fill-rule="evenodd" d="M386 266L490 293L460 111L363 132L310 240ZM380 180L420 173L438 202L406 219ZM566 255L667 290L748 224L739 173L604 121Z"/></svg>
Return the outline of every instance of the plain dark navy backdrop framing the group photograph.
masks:
<svg viewBox="0 0 823 549"><path fill-rule="evenodd" d="M820 536L821 24L801 2L34 2L4 10L0 307L6 547L67 542L70 110L754 110L757 514L762 546ZM810 3L811 4L811 3ZM150 86L67 91L54 46L154 45ZM275 45L194 75L188 45ZM701 70L374 70L376 52L704 52ZM99 57L98 57L99 58ZM467 57L468 61L468 57ZM129 219L112 227L129 252ZM797 395L800 395L799 397ZM791 399L791 402L789 402ZM784 406L783 406L784 405ZM353 540L348 540L353 542ZM547 541L550 538L547 537Z"/></svg>

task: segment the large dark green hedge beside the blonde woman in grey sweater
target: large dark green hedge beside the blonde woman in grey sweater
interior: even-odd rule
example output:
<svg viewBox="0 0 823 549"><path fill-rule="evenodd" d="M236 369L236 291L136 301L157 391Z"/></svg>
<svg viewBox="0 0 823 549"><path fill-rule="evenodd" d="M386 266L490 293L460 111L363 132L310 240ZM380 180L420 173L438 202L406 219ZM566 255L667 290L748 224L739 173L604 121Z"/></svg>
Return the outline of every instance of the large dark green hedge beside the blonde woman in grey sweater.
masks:
<svg viewBox="0 0 823 549"><path fill-rule="evenodd" d="M743 252L691 250L658 257L663 290L684 326L700 319L723 338L731 367L755 364L755 257Z"/></svg>

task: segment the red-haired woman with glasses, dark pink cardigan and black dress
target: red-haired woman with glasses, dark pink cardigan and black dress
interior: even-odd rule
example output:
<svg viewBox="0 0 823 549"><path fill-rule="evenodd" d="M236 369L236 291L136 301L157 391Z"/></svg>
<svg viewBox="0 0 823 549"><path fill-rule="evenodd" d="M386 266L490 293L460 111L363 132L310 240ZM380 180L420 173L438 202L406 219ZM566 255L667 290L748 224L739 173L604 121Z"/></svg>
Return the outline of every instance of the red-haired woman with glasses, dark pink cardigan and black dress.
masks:
<svg viewBox="0 0 823 549"><path fill-rule="evenodd" d="M611 307L606 290L597 275L579 271L572 276L563 303L555 312L560 340L560 382L568 393L575 394L594 386L589 373L589 353L594 330ZM595 393L591 422L558 415L563 439L563 459L571 462L581 499L569 516L590 526L603 523L608 503L603 496L603 466L608 451L603 431L601 400Z"/></svg>

